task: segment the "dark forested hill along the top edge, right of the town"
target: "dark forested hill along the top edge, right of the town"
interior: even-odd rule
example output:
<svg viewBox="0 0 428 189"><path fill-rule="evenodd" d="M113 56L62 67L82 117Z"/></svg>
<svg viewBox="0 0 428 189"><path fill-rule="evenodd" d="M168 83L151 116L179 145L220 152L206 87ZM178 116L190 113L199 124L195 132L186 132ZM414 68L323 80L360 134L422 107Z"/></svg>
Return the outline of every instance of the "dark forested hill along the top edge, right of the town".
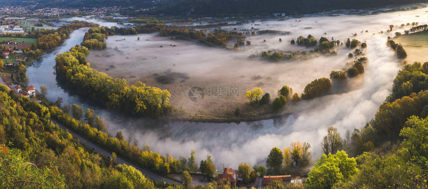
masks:
<svg viewBox="0 0 428 189"><path fill-rule="evenodd" d="M174 0L153 13L167 15L302 14L340 8L367 8L428 0Z"/></svg>

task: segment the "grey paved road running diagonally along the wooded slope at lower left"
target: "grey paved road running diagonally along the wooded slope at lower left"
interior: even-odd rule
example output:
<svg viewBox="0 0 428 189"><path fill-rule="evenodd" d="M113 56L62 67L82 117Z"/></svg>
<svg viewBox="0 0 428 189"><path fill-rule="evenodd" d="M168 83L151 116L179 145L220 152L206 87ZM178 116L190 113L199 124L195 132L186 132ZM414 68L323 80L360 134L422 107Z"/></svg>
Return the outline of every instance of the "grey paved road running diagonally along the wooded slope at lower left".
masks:
<svg viewBox="0 0 428 189"><path fill-rule="evenodd" d="M58 123L58 122L57 122L57 121L55 121L55 120L52 120L52 119L51 119L51 122L52 122L52 123L54 123L54 124L56 124L56 125L58 125L58 126L59 126L61 129L63 129L63 130L68 129L67 127L65 127L65 126L61 125L60 123ZM106 151L106 150L102 149L102 148L101 148L101 147L99 147L98 145L96 145L96 144L92 143L91 141L89 141L89 140L85 139L84 137L80 136L80 135L79 135L79 134L77 134L76 132L73 132L73 131L71 131L71 130L68 130L68 132L70 132L70 133L71 133L71 135L73 135L73 137L74 137L74 138L78 138L78 139L79 139L79 141L80 141L83 145L85 145L85 146L87 146L87 147L89 147L89 148L93 149L95 152L97 152L97 153L99 153L99 154L104 154L104 155L106 155L106 156L111 157L111 153L110 153L110 152L108 152L108 151ZM123 160L122 158L117 157L116 162L117 162L118 164L122 164L122 163L123 163L123 164L129 165L129 166L135 167L135 169L137 169L137 170L141 171L141 173L143 173L144 175L146 175L146 176L147 176L149 179L151 179L151 180L155 180L155 181L161 182L161 181L162 181L162 179L164 179L164 180L165 180L165 182L167 182L167 183L169 183L169 184L180 185L180 183L178 183L178 182L176 182L176 181L173 181L173 180L171 180L171 179L168 179L168 178L162 177L162 176L160 176L160 175L157 175L157 174L154 174L154 173L152 173L152 172L150 172L150 171L147 171L147 170L145 170L145 169L142 169L142 168L140 168L140 167L138 167L138 166L136 166L136 165L134 165L134 164L132 164L132 163L130 163L130 162L128 162L128 161L126 161L126 160Z"/></svg>

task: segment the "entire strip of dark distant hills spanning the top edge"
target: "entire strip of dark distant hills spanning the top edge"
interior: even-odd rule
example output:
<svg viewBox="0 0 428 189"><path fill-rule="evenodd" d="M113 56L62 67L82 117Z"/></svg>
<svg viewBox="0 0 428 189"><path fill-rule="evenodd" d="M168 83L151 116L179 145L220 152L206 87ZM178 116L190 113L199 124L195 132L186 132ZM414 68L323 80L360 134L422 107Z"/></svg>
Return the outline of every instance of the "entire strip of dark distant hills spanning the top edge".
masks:
<svg viewBox="0 0 428 189"><path fill-rule="evenodd" d="M174 16L255 15L263 13L304 14L340 8L367 8L428 0L4 0L1 5L37 4L43 7L132 7L153 8L151 14ZM141 14L141 12L138 12Z"/></svg>

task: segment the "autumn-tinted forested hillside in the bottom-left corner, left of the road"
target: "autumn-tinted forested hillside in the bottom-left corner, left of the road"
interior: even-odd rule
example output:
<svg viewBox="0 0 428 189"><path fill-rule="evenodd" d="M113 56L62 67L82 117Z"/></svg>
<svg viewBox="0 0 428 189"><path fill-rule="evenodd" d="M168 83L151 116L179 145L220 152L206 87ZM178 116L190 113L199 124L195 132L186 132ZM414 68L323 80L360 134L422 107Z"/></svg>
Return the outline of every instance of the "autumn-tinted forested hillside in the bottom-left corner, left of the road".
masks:
<svg viewBox="0 0 428 189"><path fill-rule="evenodd" d="M105 188L117 186L117 177L131 187L154 189L135 168L109 165L51 123L50 109L61 112L57 107L18 97L3 85L0 97L1 188Z"/></svg>

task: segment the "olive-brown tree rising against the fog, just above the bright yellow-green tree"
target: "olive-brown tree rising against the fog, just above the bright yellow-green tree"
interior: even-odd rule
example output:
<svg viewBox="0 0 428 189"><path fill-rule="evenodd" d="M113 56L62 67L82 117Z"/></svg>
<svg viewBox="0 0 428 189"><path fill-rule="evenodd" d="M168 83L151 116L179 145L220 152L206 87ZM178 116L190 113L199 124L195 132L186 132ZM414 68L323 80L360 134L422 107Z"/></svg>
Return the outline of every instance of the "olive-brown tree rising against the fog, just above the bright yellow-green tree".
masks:
<svg viewBox="0 0 428 189"><path fill-rule="evenodd" d="M336 151L343 148L344 140L340 137L340 133L337 132L337 128L330 126L327 128L327 135L322 138L321 146L324 154L335 154Z"/></svg>

